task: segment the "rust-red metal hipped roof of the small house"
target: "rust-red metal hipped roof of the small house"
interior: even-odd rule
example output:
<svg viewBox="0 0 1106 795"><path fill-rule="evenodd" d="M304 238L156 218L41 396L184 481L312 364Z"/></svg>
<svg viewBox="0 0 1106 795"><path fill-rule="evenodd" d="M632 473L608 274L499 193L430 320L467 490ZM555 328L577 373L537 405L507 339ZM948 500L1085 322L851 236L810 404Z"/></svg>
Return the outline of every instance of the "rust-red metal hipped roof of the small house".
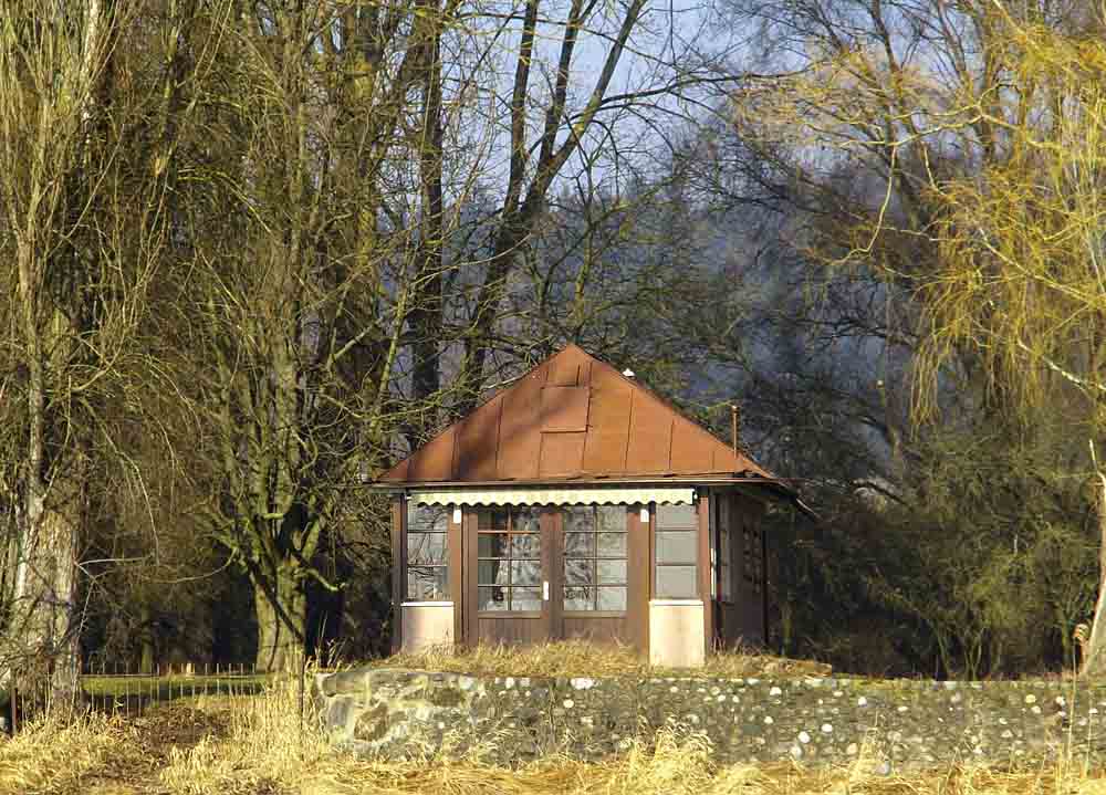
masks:
<svg viewBox="0 0 1106 795"><path fill-rule="evenodd" d="M494 395L378 482L577 482L774 475L576 345ZM781 484L782 485L782 484Z"/></svg>

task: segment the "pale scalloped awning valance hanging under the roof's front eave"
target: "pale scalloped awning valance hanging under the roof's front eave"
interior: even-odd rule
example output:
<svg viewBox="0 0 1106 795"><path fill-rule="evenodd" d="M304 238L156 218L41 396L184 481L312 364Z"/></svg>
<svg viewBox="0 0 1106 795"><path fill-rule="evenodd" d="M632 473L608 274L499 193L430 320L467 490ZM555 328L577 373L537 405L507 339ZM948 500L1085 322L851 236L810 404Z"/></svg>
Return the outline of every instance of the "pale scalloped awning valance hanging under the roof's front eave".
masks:
<svg viewBox="0 0 1106 795"><path fill-rule="evenodd" d="M418 505L644 505L650 502L691 504L695 489L609 487L559 489L435 489L413 491Z"/></svg>

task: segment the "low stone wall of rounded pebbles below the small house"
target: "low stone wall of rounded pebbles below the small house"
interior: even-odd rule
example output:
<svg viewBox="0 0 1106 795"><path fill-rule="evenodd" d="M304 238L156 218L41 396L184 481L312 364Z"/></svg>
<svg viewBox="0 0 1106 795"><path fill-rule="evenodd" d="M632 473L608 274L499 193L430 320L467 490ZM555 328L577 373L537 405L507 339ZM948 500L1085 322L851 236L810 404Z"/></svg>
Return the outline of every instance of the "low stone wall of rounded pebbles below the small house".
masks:
<svg viewBox="0 0 1106 795"><path fill-rule="evenodd" d="M658 728L702 732L719 762L886 771L1072 753L1106 763L1106 688L1063 682L478 678L399 669L320 676L333 739L361 755L467 753L521 763L595 759Z"/></svg>

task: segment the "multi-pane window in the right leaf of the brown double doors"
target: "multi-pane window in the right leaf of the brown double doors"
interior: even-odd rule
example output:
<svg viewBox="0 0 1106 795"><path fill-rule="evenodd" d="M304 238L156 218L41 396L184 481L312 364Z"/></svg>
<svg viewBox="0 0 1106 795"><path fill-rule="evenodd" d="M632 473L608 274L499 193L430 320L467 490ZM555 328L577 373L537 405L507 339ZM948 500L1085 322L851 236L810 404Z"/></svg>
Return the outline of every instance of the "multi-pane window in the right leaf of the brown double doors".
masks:
<svg viewBox="0 0 1106 795"><path fill-rule="evenodd" d="M576 505L564 525L564 609L626 609L626 506Z"/></svg>

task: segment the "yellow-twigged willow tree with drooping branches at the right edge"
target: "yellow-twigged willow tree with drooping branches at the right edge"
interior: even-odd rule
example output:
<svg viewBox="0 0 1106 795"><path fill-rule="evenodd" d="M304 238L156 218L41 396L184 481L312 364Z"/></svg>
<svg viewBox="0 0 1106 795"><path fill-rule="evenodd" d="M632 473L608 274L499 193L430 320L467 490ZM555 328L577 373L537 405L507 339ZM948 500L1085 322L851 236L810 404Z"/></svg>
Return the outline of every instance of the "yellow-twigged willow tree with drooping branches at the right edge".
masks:
<svg viewBox="0 0 1106 795"><path fill-rule="evenodd" d="M784 8L774 19L803 31L808 57L740 92L739 125L786 148L794 182L836 207L835 223L804 230L812 258L868 269L920 308L917 420L940 417L971 373L977 406L1023 418L1023 433L1034 412L1072 418L1086 454L1063 474L1088 483L1103 548L1085 670L1102 672L1104 20L999 0Z"/></svg>

